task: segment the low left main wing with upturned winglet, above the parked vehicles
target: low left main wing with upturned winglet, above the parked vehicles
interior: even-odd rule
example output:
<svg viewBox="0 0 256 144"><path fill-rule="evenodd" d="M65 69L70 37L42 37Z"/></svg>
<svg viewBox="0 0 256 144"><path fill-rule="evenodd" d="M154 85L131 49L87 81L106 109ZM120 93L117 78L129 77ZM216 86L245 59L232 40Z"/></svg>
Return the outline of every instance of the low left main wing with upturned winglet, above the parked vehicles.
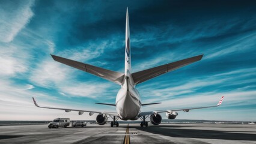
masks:
<svg viewBox="0 0 256 144"><path fill-rule="evenodd" d="M118 116L117 113L115 113L115 112L97 112L97 111L91 111L91 110L65 109L65 108L58 108L58 107L41 107L41 106L38 106L34 97L32 97L32 99L34 101L35 106L40 107L40 108L44 108L44 109L65 110L65 112L76 111L76 112L79 112L78 113L79 115L82 115L84 112L88 112L88 113L90 113L90 115L93 115L93 113L99 113L99 114L103 114L103 115Z"/></svg>

